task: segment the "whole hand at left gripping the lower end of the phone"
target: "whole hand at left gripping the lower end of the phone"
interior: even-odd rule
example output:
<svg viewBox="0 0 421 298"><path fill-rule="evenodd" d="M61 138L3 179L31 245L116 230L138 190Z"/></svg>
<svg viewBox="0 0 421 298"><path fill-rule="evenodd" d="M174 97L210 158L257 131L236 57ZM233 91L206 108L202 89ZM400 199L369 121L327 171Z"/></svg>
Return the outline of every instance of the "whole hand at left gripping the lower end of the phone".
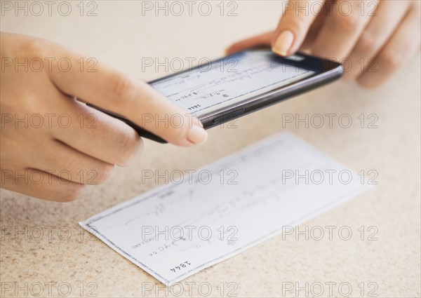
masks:
<svg viewBox="0 0 421 298"><path fill-rule="evenodd" d="M1 33L0 91L1 187L29 196L72 201L142 150L133 128L76 97L175 145L206 140L196 118L147 83L30 36Z"/></svg>

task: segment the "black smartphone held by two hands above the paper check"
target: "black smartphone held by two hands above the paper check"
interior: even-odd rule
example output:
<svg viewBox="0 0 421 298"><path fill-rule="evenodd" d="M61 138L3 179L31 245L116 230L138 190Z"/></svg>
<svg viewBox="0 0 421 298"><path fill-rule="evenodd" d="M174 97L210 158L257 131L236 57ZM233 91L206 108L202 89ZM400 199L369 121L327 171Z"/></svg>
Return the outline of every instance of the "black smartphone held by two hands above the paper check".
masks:
<svg viewBox="0 0 421 298"><path fill-rule="evenodd" d="M280 57L269 48L245 50L149 84L208 129L335 81L342 65L303 53ZM95 107L98 109L98 107ZM104 111L100 109L101 111ZM140 136L161 137L110 111Z"/></svg>

